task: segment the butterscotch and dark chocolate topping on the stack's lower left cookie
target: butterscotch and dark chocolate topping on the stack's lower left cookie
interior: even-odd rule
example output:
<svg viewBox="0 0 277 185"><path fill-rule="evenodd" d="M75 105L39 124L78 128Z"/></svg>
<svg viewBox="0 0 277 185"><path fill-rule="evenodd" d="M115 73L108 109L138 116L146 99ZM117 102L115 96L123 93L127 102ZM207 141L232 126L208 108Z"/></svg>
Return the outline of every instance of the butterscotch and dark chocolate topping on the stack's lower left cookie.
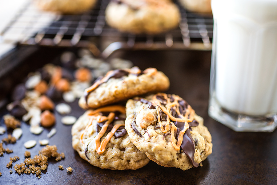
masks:
<svg viewBox="0 0 277 185"><path fill-rule="evenodd" d="M107 107L102 107L96 110L91 110L87 113L88 118L90 119L86 128L80 134L80 141L83 143L83 136L88 130L88 128L92 125L93 120L97 121L97 135L95 137L95 146L96 152L101 155L105 151L106 145L110 141L110 138L114 136L115 138L120 138L124 136L127 131L125 130L125 123L115 124L113 125L113 121L116 115L116 112L125 114L125 107L119 105L112 105ZM104 113L108 113L107 116L104 116ZM104 136L104 134L108 132L106 137L100 143L100 139Z"/></svg>

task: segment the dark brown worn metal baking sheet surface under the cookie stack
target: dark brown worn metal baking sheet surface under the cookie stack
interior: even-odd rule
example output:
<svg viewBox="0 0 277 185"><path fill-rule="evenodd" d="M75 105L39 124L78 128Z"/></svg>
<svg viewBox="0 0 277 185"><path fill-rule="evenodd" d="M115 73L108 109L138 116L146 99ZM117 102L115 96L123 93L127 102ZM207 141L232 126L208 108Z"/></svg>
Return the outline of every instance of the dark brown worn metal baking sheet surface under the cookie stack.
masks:
<svg viewBox="0 0 277 185"><path fill-rule="evenodd" d="M42 48L27 58L22 65L37 64L41 66L47 61L58 62L62 48ZM49 55L51 53L51 55ZM23 135L15 143L4 145L14 153L4 154L0 158L0 184L276 184L277 182L277 131L273 133L236 133L224 125L214 121L207 114L210 57L209 51L128 51L117 53L122 58L130 59L142 69L156 67L163 71L171 81L168 93L183 97L204 118L204 124L212 135L213 153L203 162L203 167L182 171L177 168L166 168L149 162L145 167L132 171L112 171L91 166L79 157L71 146L71 126L62 125L61 116L55 112L57 134L50 138L50 145L56 145L58 152L65 153L65 159L59 162L49 161L45 173L38 179L36 175L10 174L6 163L10 157L18 155L23 162L26 149L23 143L35 139L46 138L48 130L34 136L29 132L29 125L22 123ZM10 75L15 75L20 67ZM5 78L8 78L6 76ZM24 78L22 76L22 78ZM71 115L79 116L84 111L77 106L77 101L70 104L74 111ZM0 121L3 124L0 111ZM0 135L0 139L7 133ZM42 146L38 144L29 149L31 155L38 154ZM13 163L13 164L16 164ZM70 166L73 173L67 174Z"/></svg>

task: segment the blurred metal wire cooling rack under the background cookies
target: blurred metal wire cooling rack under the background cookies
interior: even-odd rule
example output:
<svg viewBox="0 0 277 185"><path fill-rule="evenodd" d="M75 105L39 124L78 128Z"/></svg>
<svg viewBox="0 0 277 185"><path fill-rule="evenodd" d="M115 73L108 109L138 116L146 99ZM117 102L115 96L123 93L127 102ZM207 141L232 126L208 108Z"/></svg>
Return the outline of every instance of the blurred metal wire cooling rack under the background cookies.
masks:
<svg viewBox="0 0 277 185"><path fill-rule="evenodd" d="M182 16L178 28L158 35L134 35L119 32L106 24L108 3L109 0L98 0L93 10L83 14L60 15L39 11L30 1L0 36L4 42L18 44L90 47L96 55L102 53L103 57L118 49L211 50L212 15L187 12L176 1ZM96 43L95 39L102 42Z"/></svg>

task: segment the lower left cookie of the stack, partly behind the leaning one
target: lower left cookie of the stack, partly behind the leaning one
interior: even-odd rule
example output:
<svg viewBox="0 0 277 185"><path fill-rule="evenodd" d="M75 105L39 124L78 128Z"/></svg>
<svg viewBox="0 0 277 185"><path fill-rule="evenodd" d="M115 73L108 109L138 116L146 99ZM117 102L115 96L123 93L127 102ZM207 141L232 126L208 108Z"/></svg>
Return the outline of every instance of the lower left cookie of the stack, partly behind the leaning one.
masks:
<svg viewBox="0 0 277 185"><path fill-rule="evenodd" d="M72 126L72 146L80 157L102 169L135 170L149 159L124 129L125 107L107 106L86 111Z"/></svg>

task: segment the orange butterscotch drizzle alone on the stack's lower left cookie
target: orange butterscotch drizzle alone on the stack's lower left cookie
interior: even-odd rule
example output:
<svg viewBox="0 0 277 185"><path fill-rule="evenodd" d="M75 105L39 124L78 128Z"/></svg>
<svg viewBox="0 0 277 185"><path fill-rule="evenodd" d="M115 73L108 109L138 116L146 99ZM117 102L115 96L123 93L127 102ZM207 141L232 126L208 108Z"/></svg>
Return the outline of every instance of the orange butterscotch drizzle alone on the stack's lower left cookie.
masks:
<svg viewBox="0 0 277 185"><path fill-rule="evenodd" d="M89 117L90 121L86 125L86 128L80 134L80 141L82 142L83 147L85 147L84 142L83 142L83 136L84 133L87 132L88 128L92 125L93 120L96 120L98 123L101 123L103 121L106 121L104 125L102 126L101 130L98 132L98 134L95 137L95 150L96 152L101 155L105 151L106 145L110 141L110 138L114 135L114 133L118 130L119 127L125 126L124 123L122 124L115 124L112 128L112 130L107 134L107 136L102 140L100 143L100 139L103 137L103 135L106 133L108 126L112 121L114 121L115 113L114 112L120 112L122 114L125 114L125 107L120 106L120 105L112 105L112 106L107 106L107 107L102 107L99 109L95 110L90 110L87 113L87 116ZM108 116L102 116L100 113L101 112L110 112Z"/></svg>

